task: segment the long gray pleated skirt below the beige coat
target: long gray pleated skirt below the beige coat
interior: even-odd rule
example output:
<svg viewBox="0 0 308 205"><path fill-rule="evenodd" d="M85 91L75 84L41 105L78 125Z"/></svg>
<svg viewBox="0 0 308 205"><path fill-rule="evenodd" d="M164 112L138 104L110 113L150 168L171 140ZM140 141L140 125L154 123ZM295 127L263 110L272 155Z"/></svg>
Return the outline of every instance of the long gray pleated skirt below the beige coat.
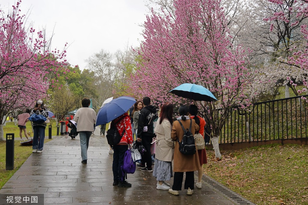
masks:
<svg viewBox="0 0 308 205"><path fill-rule="evenodd" d="M153 176L157 181L169 181L173 177L172 162L165 162L155 159Z"/></svg>

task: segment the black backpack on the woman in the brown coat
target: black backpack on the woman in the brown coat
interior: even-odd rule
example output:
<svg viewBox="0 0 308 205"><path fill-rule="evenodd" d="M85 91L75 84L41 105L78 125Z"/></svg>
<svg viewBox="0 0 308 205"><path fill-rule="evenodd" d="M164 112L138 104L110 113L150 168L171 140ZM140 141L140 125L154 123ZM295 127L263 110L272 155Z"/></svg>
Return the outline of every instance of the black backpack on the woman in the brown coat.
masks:
<svg viewBox="0 0 308 205"><path fill-rule="evenodd" d="M190 126L189 129L184 128L183 124L178 120L183 131L184 131L184 136L182 139L182 142L180 142L179 138L177 139L180 147L179 150L182 154L184 155L194 155L196 153L196 144L195 144L195 139L193 134L191 133L192 129L192 120L190 119Z"/></svg>

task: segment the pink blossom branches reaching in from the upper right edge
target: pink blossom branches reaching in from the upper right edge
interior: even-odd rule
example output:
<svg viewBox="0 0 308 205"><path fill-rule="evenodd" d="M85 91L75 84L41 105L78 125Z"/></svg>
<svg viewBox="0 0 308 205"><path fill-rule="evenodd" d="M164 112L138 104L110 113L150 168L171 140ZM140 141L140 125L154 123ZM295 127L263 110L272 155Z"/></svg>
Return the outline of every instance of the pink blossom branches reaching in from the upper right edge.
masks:
<svg viewBox="0 0 308 205"><path fill-rule="evenodd" d="M307 88L302 90L297 90L296 86L298 83L303 83L306 87L307 83L307 72L308 72L308 59L307 59L307 39L308 39L308 30L307 30L307 17L308 17L308 2L306 0L268 0L271 3L278 5L281 8L287 8L287 10L277 11L273 13L268 18L265 18L265 21L270 22L270 31L274 29L274 25L279 22L280 24L289 25L292 27L300 27L302 33L303 41L301 44L289 46L286 52L289 55L286 55L286 58L280 58L279 62L290 67L287 72L283 72L286 76L284 84L287 86L292 86L292 91L298 95L302 92L307 91ZM295 16L295 19L291 22L290 16ZM305 19L306 21L303 21ZM290 38L287 38L290 40Z"/></svg>

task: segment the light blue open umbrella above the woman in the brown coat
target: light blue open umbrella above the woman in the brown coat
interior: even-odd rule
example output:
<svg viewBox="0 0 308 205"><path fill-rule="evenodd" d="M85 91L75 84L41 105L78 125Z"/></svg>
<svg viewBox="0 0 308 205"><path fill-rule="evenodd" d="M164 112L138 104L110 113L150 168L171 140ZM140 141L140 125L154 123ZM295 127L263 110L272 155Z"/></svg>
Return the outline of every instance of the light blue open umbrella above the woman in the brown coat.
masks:
<svg viewBox="0 0 308 205"><path fill-rule="evenodd" d="M196 84L184 83L169 92L176 94L179 97L188 98L191 100L207 102L217 100L211 91L201 85Z"/></svg>

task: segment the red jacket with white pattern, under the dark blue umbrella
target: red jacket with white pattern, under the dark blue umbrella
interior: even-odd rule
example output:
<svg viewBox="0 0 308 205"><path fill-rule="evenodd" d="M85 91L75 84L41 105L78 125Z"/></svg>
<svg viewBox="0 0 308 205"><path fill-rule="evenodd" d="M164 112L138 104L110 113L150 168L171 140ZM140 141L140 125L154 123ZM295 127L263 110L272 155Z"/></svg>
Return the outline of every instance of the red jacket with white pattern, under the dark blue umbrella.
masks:
<svg viewBox="0 0 308 205"><path fill-rule="evenodd" d="M133 138L132 138L133 133L132 133L131 118L129 117L129 115L127 113L124 113L120 117L114 119L113 123L116 124L116 128L119 131L120 135L122 134L123 130L125 129L124 135L121 138L120 143L132 144L133 143Z"/></svg>

